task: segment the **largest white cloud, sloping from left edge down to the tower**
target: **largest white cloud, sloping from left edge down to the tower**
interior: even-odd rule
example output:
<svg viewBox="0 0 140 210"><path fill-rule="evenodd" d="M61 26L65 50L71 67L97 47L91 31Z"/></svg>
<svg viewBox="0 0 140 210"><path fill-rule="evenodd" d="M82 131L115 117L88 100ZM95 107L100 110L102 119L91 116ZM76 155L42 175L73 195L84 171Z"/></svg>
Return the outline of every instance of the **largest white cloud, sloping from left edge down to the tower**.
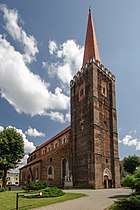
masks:
<svg viewBox="0 0 140 210"><path fill-rule="evenodd" d="M48 111L54 109L67 110L69 97L60 88L52 93L48 87L47 83L30 71L22 55L0 37L1 97L14 106L17 112L32 116L47 115Z"/></svg>

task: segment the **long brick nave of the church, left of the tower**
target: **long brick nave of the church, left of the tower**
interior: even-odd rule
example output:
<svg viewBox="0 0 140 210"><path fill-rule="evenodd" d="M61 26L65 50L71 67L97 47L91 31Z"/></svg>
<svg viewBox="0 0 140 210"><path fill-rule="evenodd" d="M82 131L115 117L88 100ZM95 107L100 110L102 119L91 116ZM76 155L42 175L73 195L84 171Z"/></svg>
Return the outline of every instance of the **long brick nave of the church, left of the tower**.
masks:
<svg viewBox="0 0 140 210"><path fill-rule="evenodd" d="M67 160L66 173L70 170L69 138L70 128L67 128L40 147L37 147L36 150L29 156L27 165L20 169L20 184L42 180L47 181L52 185L63 185L63 159ZM48 150L49 147L51 148L50 150ZM50 166L53 169L53 176L48 175L48 169Z"/></svg>

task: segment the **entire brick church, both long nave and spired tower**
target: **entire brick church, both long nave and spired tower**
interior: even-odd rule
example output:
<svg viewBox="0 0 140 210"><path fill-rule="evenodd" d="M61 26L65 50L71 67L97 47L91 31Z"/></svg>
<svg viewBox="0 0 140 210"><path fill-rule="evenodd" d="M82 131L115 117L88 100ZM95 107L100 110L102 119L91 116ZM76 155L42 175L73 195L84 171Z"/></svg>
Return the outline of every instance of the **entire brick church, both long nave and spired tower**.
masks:
<svg viewBox="0 0 140 210"><path fill-rule="evenodd" d="M101 63L90 10L83 64L70 91L71 125L29 155L20 184L120 187L115 76Z"/></svg>

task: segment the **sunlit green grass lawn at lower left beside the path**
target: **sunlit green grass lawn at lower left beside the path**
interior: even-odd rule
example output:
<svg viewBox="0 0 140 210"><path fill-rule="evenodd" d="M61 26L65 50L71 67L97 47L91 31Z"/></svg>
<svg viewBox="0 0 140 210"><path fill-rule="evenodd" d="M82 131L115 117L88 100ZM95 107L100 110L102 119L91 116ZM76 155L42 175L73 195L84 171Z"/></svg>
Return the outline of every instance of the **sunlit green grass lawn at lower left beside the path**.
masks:
<svg viewBox="0 0 140 210"><path fill-rule="evenodd" d="M16 193L23 193L23 191L6 191L0 192L0 210L15 210ZM19 197L19 210L28 210L40 206L46 206L53 203L58 203L66 200L80 198L86 196L80 193L65 193L65 195L56 198L23 198Z"/></svg>

